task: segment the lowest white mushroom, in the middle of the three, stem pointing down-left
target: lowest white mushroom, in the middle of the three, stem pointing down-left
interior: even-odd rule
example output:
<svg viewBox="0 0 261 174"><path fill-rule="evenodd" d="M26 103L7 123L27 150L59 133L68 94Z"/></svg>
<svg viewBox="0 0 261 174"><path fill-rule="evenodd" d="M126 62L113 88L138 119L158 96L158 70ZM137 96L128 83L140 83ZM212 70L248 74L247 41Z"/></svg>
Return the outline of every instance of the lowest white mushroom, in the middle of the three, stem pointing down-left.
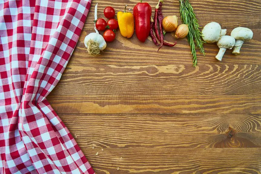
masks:
<svg viewBox="0 0 261 174"><path fill-rule="evenodd" d="M216 42L217 46L220 48L216 59L221 61L226 49L232 49L235 45L236 40L231 36L221 36Z"/></svg>

